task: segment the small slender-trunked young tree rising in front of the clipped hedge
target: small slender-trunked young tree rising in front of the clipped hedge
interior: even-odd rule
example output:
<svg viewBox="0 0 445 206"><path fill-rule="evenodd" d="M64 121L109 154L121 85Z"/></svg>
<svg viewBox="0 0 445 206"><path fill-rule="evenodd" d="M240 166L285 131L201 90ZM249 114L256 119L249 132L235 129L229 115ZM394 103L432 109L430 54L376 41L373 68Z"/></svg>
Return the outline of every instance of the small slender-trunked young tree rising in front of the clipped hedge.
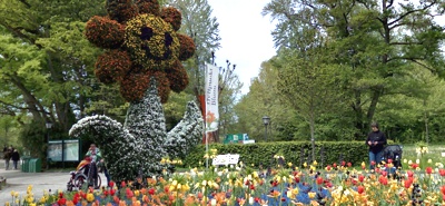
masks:
<svg viewBox="0 0 445 206"><path fill-rule="evenodd" d="M315 159L316 122L323 114L344 110L340 66L330 65L323 47L307 48L304 52L278 56L280 98L308 124Z"/></svg>

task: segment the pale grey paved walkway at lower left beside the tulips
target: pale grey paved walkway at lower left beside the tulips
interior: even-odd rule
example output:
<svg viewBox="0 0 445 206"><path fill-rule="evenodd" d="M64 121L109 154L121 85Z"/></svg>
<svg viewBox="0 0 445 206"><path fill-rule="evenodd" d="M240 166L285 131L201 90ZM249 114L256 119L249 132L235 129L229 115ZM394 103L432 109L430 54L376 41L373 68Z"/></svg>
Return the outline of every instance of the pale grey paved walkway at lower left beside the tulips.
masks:
<svg viewBox="0 0 445 206"><path fill-rule="evenodd" d="M67 183L70 179L69 173L22 173L19 170L6 170L3 160L0 163L0 176L7 178L7 186L0 190L0 206L6 202L11 202L11 192L18 192L23 197L29 185L32 185L32 193L38 200L43 196L43 190L57 193L57 190L66 190ZM106 179L100 174L102 184ZM106 182L106 180L105 180Z"/></svg>

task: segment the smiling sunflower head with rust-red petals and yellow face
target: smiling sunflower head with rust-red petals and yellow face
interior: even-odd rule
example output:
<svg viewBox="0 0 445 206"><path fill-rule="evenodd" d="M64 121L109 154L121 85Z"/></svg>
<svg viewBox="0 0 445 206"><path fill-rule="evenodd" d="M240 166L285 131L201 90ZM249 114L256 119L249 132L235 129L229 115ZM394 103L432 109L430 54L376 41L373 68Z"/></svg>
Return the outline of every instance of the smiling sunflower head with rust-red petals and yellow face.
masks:
<svg viewBox="0 0 445 206"><path fill-rule="evenodd" d="M180 63L195 53L192 39L177 31L181 13L160 8L157 0L107 0L107 17L92 17L86 36L97 47L108 49L98 57L95 75L105 84L120 84L128 101L139 101L149 79L157 80L161 102L170 90L180 92L188 85Z"/></svg>

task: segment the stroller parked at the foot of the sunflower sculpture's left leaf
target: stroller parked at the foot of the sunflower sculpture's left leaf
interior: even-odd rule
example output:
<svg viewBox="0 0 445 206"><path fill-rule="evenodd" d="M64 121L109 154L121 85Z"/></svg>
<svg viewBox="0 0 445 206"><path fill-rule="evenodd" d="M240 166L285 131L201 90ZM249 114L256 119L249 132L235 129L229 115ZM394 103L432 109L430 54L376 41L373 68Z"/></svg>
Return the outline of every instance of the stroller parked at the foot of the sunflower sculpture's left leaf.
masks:
<svg viewBox="0 0 445 206"><path fill-rule="evenodd" d="M70 179L67 183L67 190L72 192L73 188L80 189L83 184L87 183L88 186L95 186L95 189L99 188L101 185L100 175L97 175L97 179L92 174L93 169L97 170L96 163L91 161L90 158L86 158L80 161L77 170L70 171ZM97 173L96 173L97 174Z"/></svg>

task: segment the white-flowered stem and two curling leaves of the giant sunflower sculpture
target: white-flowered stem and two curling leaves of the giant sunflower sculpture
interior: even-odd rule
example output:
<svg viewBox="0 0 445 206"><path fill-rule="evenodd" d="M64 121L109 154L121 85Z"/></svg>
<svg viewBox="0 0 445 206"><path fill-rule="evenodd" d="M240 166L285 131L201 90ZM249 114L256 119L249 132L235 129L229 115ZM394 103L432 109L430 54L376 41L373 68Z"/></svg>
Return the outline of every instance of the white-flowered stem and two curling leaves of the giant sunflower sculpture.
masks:
<svg viewBox="0 0 445 206"><path fill-rule="evenodd" d="M167 133L154 80L142 100L128 108L123 126L106 116L92 116L75 124L69 134L78 138L90 136L100 146L112 178L131 180L139 175L149 177L171 170L160 164L161 158L184 157L199 143L202 129L199 108L191 101L182 120Z"/></svg>

